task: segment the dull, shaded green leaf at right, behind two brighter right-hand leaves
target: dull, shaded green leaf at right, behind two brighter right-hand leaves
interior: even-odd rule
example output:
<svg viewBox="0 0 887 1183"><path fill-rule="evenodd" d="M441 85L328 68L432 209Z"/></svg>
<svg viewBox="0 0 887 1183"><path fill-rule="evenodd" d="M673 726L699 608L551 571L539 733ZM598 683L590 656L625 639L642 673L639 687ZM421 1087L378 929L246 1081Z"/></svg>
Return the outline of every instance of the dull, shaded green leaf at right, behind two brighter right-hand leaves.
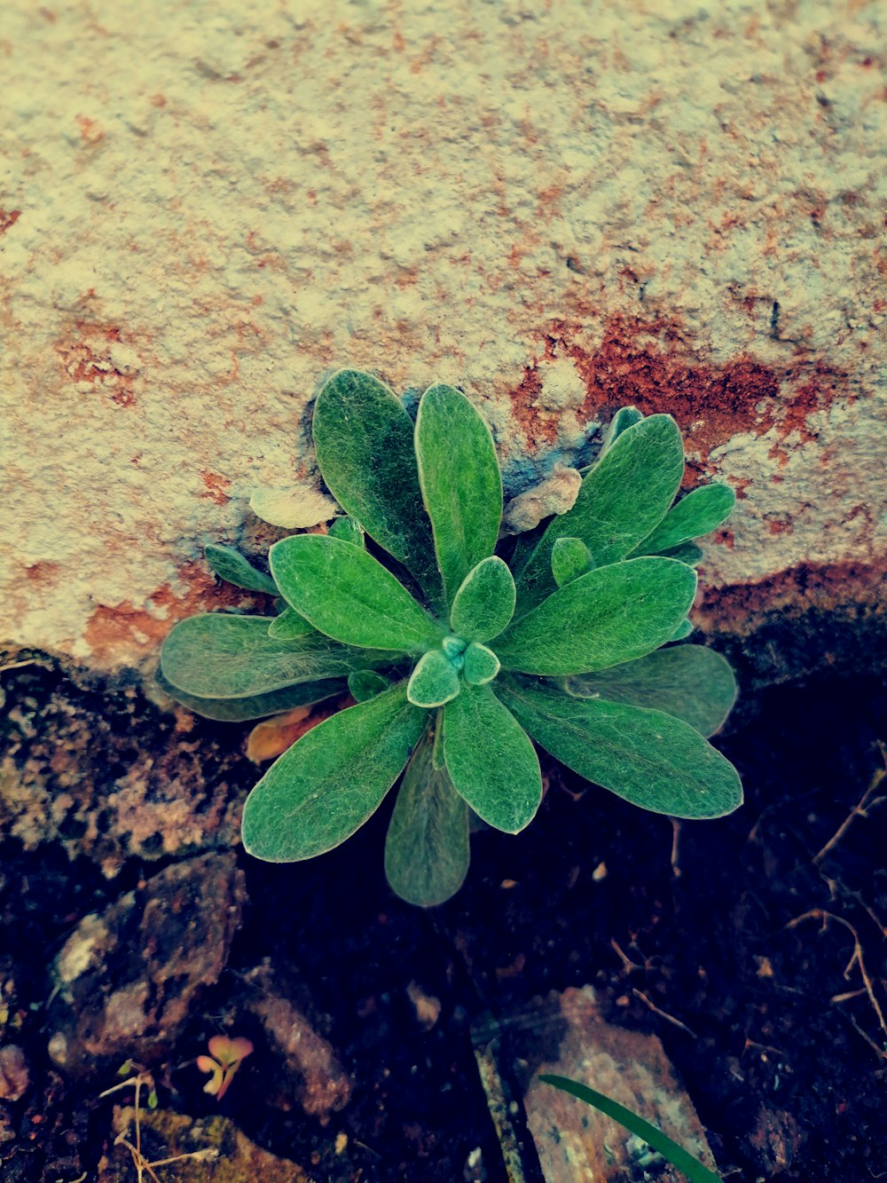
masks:
<svg viewBox="0 0 887 1183"><path fill-rule="evenodd" d="M576 698L607 698L684 719L703 736L724 725L736 702L736 678L720 653L704 645L658 649L637 661L566 678Z"/></svg>

